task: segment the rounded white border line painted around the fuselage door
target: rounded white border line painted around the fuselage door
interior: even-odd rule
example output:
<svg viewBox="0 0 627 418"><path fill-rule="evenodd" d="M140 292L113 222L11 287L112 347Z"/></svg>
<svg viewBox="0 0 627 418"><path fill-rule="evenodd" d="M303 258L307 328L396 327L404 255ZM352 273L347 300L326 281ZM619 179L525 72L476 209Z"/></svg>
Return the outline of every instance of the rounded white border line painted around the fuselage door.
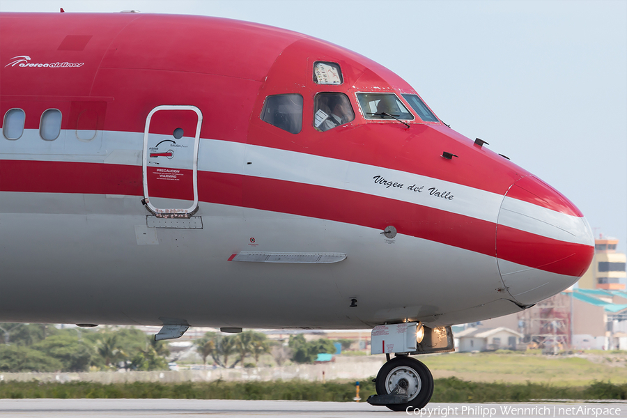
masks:
<svg viewBox="0 0 627 418"><path fill-rule="evenodd" d="M150 196L148 195L148 134L150 133L150 119L153 115L160 110L192 110L196 112L198 116L198 123L196 124L196 134L194 135L194 157L192 157L192 187L194 189L194 203L187 209L177 208L155 208L150 203ZM146 129L144 130L144 155L141 159L141 169L144 175L144 203L148 207L150 212L153 212L157 217L190 217L194 215L194 212L198 209L198 148L200 144L200 130L203 123L203 114L196 106L179 106L179 105L161 105L155 107L146 116Z"/></svg>

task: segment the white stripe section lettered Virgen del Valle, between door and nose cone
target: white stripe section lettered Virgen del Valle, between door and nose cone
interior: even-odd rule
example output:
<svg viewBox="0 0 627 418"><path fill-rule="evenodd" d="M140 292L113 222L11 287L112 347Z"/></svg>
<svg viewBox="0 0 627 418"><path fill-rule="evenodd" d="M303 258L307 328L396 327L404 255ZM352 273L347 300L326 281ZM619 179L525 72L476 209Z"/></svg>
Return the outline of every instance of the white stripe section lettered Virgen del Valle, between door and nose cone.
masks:
<svg viewBox="0 0 627 418"><path fill-rule="evenodd" d="M200 169L382 196L488 222L496 222L503 199L500 194L437 178L263 146L245 146L244 164L233 164L233 158L227 156L240 153L241 149L234 148L241 146L226 141L203 141L199 150ZM384 181L387 184L378 183ZM409 187L420 191L414 192ZM442 197L447 192L448 198Z"/></svg>

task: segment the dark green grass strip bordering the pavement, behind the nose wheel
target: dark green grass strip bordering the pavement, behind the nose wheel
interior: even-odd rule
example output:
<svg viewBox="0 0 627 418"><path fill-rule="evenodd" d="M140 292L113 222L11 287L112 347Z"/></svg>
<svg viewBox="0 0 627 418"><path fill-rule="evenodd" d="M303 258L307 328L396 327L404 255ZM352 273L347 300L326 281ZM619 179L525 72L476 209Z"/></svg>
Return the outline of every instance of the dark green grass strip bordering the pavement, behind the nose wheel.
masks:
<svg viewBox="0 0 627 418"><path fill-rule="evenodd" d="M362 401L375 393L371 379L360 382ZM353 401L354 382L0 382L0 398L173 398L287 401ZM593 382L583 387L435 380L432 402L525 402L538 399L627 399L627 384Z"/></svg>

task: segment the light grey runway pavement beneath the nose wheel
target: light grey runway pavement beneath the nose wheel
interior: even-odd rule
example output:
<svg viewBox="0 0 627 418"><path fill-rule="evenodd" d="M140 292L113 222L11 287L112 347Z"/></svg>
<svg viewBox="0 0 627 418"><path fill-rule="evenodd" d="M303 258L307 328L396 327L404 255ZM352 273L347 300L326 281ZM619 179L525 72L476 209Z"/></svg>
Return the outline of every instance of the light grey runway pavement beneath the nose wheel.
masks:
<svg viewBox="0 0 627 418"><path fill-rule="evenodd" d="M0 417L627 417L627 403L430 403L392 412L367 403L197 399L0 399Z"/></svg>

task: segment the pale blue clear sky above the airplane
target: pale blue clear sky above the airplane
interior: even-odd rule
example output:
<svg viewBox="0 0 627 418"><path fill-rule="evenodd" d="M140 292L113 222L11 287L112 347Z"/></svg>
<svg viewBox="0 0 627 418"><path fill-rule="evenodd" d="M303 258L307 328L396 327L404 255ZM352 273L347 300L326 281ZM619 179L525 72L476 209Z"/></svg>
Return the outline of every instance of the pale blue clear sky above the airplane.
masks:
<svg viewBox="0 0 627 418"><path fill-rule="evenodd" d="M627 249L627 1L0 0L0 11L229 17L403 77L442 121L571 199Z"/></svg>

